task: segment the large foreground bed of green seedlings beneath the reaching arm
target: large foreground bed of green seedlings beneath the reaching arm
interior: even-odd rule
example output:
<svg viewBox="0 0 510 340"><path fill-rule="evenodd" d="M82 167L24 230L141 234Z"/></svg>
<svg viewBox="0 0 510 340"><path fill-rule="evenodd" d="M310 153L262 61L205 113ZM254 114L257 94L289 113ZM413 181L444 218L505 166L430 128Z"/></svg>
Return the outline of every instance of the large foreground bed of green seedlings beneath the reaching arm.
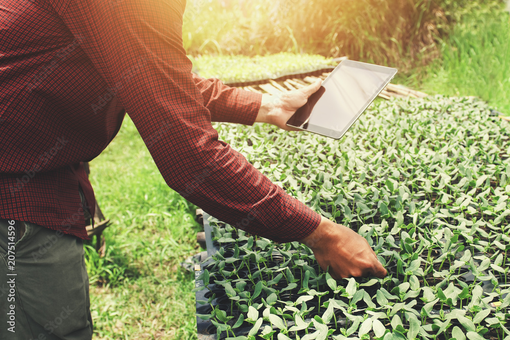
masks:
<svg viewBox="0 0 510 340"><path fill-rule="evenodd" d="M227 316L238 307L248 311L249 325L266 322L234 333L505 338L510 127L489 114L487 104L473 98L379 101L342 140L218 124L220 138L273 182L364 236L389 272L384 279L335 281L308 247L253 241L212 219L222 247L207 265L215 293L222 296L223 286L228 296L234 283L246 283L235 306L218 308ZM234 255L232 244L239 250ZM284 290L291 282L297 286Z"/></svg>

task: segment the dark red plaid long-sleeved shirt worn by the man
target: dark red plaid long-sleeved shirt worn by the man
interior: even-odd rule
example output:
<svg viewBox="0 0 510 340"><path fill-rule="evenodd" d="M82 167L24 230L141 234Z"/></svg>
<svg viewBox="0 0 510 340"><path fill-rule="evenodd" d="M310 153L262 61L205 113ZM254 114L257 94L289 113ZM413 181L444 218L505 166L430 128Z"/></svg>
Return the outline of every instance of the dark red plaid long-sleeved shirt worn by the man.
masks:
<svg viewBox="0 0 510 340"><path fill-rule="evenodd" d="M0 0L0 218L86 239L78 187L95 203L83 162L127 111L167 184L204 211L276 241L317 227L318 214L218 140L211 121L253 124L261 95L191 73L185 6Z"/></svg>

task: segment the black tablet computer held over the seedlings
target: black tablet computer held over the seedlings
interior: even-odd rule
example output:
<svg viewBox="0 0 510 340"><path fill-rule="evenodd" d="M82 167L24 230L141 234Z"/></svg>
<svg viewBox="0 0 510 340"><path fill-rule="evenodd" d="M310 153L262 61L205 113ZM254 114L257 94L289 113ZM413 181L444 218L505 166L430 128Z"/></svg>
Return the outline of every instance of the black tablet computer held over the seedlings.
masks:
<svg viewBox="0 0 510 340"><path fill-rule="evenodd" d="M287 125L340 139L396 73L395 68L344 60Z"/></svg>

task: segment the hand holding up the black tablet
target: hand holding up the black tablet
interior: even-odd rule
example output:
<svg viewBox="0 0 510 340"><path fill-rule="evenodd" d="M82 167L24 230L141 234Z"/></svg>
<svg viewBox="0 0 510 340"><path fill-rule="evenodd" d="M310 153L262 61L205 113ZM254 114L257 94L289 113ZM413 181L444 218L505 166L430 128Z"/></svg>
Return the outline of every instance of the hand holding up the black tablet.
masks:
<svg viewBox="0 0 510 340"><path fill-rule="evenodd" d="M307 103L308 97L317 92L321 83L319 79L314 84L282 93L280 96L264 94L255 122L273 124L287 131L298 131L296 128L287 126L287 121L297 109Z"/></svg>

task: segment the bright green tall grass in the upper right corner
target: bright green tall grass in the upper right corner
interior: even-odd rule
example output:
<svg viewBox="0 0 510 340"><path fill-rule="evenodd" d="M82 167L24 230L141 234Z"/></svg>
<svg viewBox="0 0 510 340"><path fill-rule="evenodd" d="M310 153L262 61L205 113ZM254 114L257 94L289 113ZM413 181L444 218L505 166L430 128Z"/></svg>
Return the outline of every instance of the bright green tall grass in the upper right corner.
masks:
<svg viewBox="0 0 510 340"><path fill-rule="evenodd" d="M442 59L426 69L421 88L475 95L510 115L510 17L499 1L472 2L441 40Z"/></svg>

